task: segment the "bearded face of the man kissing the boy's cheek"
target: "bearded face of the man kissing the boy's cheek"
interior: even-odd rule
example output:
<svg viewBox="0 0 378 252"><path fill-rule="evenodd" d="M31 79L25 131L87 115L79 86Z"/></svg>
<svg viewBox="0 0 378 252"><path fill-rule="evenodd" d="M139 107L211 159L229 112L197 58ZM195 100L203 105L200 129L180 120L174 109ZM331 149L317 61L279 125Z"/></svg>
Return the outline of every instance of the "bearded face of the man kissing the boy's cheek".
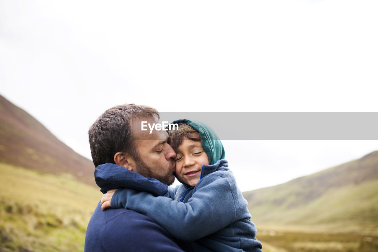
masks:
<svg viewBox="0 0 378 252"><path fill-rule="evenodd" d="M160 182L172 185L175 181L173 173L175 172L176 156L175 151L167 143L168 134L166 131L157 131L150 129L141 131L141 122L147 121L150 125L158 123L151 118L135 118L133 120L133 141L138 155L134 157L135 172L144 177L152 177Z"/></svg>

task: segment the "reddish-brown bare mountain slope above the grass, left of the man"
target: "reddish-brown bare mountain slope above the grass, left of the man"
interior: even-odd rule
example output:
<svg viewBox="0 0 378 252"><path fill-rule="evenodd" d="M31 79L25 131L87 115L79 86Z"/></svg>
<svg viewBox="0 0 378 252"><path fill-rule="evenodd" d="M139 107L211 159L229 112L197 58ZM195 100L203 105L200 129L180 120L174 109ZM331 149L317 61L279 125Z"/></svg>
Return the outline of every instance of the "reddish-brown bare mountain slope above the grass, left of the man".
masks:
<svg viewBox="0 0 378 252"><path fill-rule="evenodd" d="M96 186L91 160L74 152L1 95L0 162L42 173L69 173L85 184Z"/></svg>

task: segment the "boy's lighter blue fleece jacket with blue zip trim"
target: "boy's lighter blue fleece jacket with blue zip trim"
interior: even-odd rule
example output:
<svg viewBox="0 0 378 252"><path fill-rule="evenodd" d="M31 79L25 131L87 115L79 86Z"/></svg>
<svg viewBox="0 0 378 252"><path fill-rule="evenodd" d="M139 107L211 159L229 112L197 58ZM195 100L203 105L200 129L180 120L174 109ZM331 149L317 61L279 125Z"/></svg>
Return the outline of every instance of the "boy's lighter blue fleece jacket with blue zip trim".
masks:
<svg viewBox="0 0 378 252"><path fill-rule="evenodd" d="M247 201L226 160L202 166L197 185L187 188L183 196L180 194L182 202L172 200L180 187L187 185L170 190L166 197L119 189L111 205L151 217L172 236L191 241L193 251L262 251Z"/></svg>

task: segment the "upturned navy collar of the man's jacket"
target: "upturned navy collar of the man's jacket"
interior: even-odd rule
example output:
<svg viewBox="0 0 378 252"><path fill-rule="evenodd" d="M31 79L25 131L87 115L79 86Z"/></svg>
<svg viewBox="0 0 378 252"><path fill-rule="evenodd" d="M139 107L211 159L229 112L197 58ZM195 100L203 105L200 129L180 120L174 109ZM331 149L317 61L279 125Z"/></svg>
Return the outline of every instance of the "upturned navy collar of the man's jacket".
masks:
<svg viewBox="0 0 378 252"><path fill-rule="evenodd" d="M168 191L168 186L159 180L144 177L113 163L98 165L95 169L95 180L102 193L111 189L129 188L163 196Z"/></svg>

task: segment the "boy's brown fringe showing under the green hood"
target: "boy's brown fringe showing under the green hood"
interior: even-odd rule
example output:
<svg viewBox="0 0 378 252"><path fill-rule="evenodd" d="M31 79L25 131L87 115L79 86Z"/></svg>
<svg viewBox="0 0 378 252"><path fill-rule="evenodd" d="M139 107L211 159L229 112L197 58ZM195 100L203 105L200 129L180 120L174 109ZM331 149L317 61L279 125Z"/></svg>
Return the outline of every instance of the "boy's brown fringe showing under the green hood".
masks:
<svg viewBox="0 0 378 252"><path fill-rule="evenodd" d="M168 143L175 152L178 152L178 147L183 143L185 137L189 140L201 141L200 132L187 123L178 123L178 129L168 131L168 135Z"/></svg>

